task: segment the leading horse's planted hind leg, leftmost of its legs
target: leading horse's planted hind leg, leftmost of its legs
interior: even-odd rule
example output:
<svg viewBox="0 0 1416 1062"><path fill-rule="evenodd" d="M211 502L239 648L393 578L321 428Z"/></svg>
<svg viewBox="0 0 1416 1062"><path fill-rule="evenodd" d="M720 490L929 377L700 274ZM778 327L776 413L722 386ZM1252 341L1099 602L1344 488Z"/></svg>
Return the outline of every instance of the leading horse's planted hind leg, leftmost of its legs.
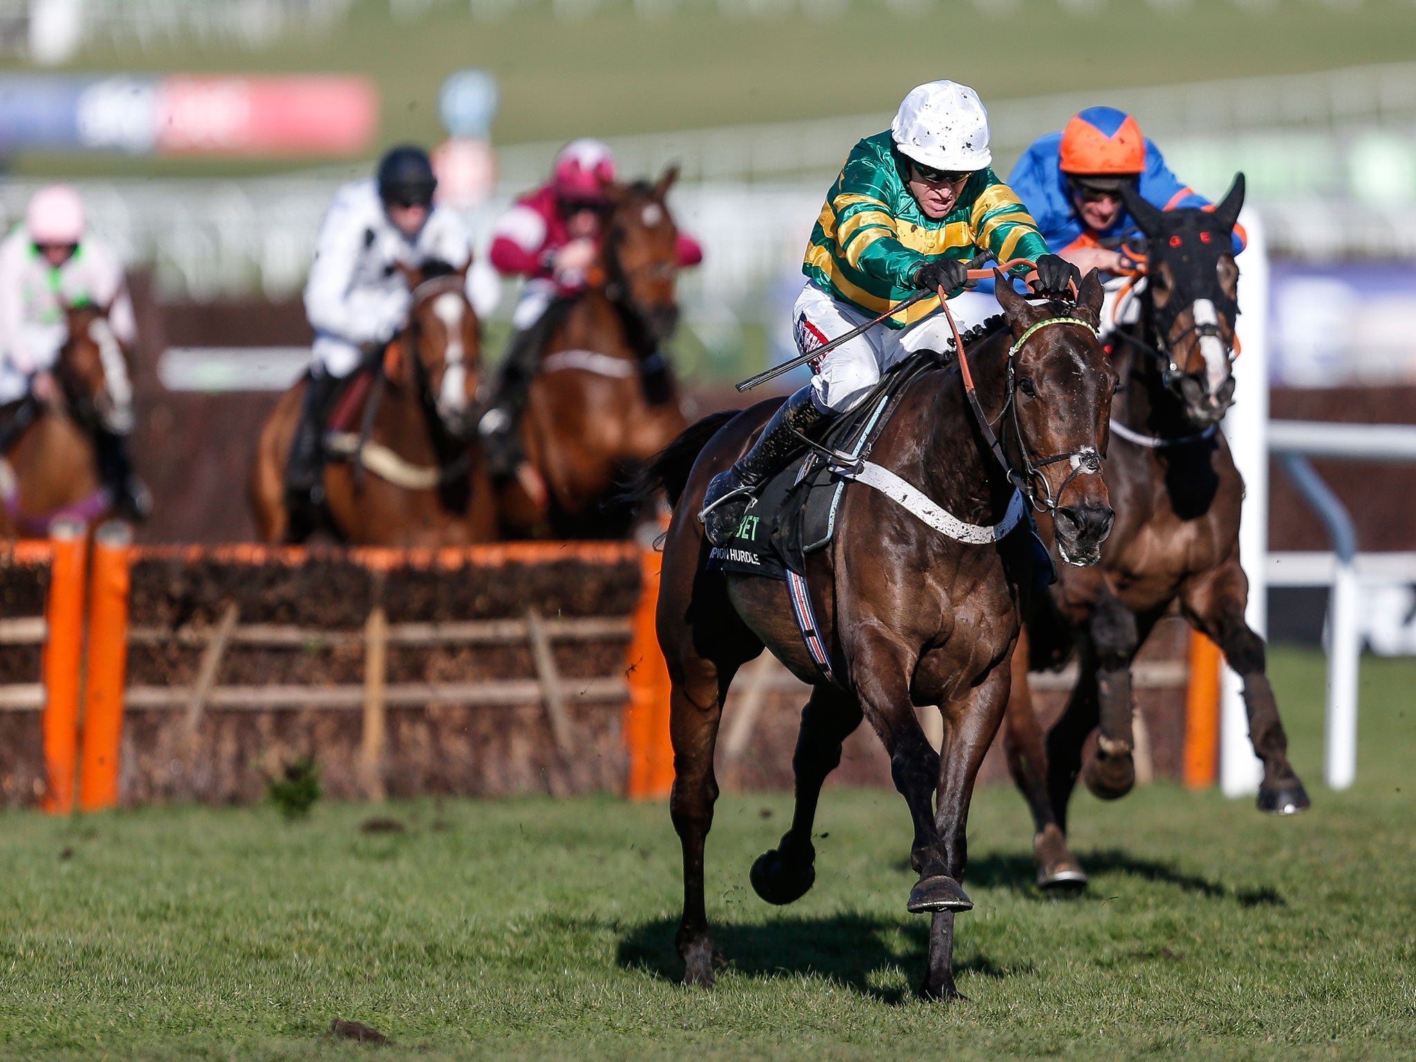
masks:
<svg viewBox="0 0 1416 1062"><path fill-rule="evenodd" d="M677 664L677 666L675 666ZM712 828L718 779L712 758L718 743L722 700L736 668L719 668L702 657L670 660L673 681L668 733L674 746L674 787L668 810L684 851L684 915L675 943L684 960L684 984L711 988L712 936L704 905L704 845Z"/></svg>

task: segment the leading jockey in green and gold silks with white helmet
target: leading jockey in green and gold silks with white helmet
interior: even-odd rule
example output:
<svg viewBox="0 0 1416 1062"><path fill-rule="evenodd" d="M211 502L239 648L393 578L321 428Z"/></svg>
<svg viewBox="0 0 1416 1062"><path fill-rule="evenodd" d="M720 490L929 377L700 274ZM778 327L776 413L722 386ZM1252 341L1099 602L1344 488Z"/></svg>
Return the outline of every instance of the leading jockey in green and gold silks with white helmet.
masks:
<svg viewBox="0 0 1416 1062"><path fill-rule="evenodd" d="M978 93L952 81L913 89L886 132L855 144L806 249L807 282L793 309L803 354L916 290L943 287L954 297L964 290L967 262L983 251L1000 262L1034 261L1048 293L1080 282L1076 266L1048 253L991 161ZM800 450L801 435L858 405L908 354L946 348L952 331L939 309L937 296L918 302L813 365L810 385L789 396L752 449L708 484L700 518L714 545L732 538L752 491Z"/></svg>

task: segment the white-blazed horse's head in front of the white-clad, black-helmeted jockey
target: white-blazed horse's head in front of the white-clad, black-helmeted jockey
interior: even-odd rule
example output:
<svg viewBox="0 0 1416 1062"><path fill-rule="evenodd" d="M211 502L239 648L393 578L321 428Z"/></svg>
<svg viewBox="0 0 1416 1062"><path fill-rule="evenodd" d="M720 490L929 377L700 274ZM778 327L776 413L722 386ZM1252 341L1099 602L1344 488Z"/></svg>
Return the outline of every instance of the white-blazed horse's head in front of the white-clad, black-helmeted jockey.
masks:
<svg viewBox="0 0 1416 1062"><path fill-rule="evenodd" d="M408 370L438 419L453 436L472 432L472 405L481 367L481 333L467 300L467 266L443 262L399 266L413 293L404 333Z"/></svg>

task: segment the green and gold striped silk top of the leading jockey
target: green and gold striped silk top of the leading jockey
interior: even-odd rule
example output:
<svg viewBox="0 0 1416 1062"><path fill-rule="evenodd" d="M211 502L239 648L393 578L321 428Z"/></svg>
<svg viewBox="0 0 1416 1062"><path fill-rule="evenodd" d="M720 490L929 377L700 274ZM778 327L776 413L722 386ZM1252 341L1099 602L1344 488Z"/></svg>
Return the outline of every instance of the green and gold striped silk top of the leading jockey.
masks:
<svg viewBox="0 0 1416 1062"><path fill-rule="evenodd" d="M1035 262L1048 253L1028 208L991 169L973 171L954 208L943 218L932 218L906 187L909 166L888 130L865 137L851 150L827 194L801 265L801 272L827 295L875 317L915 293L913 276L925 262L967 262L983 249L1000 262ZM1028 269L1018 266L1014 272ZM937 310L936 296L885 323L903 329Z"/></svg>

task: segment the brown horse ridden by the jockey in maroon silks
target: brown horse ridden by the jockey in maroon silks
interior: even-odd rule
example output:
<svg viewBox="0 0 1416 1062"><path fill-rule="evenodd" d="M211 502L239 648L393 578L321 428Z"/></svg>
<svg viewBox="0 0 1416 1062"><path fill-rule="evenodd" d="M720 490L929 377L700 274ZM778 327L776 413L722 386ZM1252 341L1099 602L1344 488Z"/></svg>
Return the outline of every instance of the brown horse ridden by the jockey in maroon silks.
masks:
<svg viewBox="0 0 1416 1062"><path fill-rule="evenodd" d="M654 364L678 324L678 229L664 201L677 176L610 193L590 285L549 310L564 317L521 418L535 476L500 491L508 537L624 537L634 513L619 484L687 425L668 367Z"/></svg>

